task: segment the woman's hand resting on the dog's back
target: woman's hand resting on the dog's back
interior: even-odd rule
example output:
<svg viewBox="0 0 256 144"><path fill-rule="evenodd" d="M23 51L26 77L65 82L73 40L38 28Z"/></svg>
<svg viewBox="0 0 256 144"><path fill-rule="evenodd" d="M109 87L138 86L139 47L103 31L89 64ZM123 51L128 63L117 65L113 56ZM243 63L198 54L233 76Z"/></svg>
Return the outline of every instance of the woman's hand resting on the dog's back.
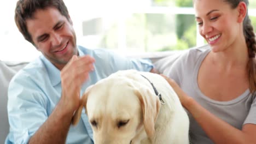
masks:
<svg viewBox="0 0 256 144"><path fill-rule="evenodd" d="M169 83L169 85L173 88L173 90L177 93L179 100L181 101L181 104L185 106L185 103L190 99L187 94L179 87L179 85L173 80L170 79L169 77L160 74L162 77L165 78L165 80Z"/></svg>

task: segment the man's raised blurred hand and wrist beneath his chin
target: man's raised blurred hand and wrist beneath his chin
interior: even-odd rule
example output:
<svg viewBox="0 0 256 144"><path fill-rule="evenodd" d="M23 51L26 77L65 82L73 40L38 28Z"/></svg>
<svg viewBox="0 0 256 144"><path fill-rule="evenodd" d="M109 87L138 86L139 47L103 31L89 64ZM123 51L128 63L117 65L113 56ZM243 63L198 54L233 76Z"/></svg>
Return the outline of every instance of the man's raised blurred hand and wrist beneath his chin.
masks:
<svg viewBox="0 0 256 144"><path fill-rule="evenodd" d="M95 59L86 55L73 56L67 65L61 70L62 95L60 103L66 112L71 113L78 109L80 89L88 80L90 71L94 70Z"/></svg>

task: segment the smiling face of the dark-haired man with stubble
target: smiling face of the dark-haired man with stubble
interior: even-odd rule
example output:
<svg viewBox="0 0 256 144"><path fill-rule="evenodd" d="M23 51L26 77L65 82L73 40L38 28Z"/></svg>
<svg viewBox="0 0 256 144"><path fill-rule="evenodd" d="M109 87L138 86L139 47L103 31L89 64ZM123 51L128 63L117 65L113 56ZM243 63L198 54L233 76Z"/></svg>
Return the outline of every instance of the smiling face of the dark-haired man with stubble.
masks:
<svg viewBox="0 0 256 144"><path fill-rule="evenodd" d="M61 70L73 55L78 55L72 21L56 8L38 9L34 19L26 22L37 50L58 69Z"/></svg>

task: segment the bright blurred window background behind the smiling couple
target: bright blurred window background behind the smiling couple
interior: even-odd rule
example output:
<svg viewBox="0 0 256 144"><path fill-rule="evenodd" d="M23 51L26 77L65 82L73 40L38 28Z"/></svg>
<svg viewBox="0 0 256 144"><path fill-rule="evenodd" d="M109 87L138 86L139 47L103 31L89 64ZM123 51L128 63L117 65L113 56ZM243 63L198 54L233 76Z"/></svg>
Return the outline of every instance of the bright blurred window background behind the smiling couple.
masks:
<svg viewBox="0 0 256 144"><path fill-rule="evenodd" d="M182 50L205 44L197 32L191 0L64 1L77 43L89 49L102 47L139 53ZM16 28L15 6L16 1L4 1L0 5L0 59L31 61L40 52ZM255 31L256 1L250 1L248 12Z"/></svg>

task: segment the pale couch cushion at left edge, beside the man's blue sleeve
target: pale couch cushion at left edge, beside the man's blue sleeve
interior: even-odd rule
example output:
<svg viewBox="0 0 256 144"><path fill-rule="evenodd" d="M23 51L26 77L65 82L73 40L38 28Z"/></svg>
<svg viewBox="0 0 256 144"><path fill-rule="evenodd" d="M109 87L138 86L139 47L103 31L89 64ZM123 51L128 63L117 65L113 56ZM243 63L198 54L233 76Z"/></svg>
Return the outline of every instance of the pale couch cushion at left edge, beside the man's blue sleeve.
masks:
<svg viewBox="0 0 256 144"><path fill-rule="evenodd" d="M27 63L3 62L0 61L0 143L4 143L9 133L9 122L7 115L7 91L11 78L18 70L23 68Z"/></svg>

